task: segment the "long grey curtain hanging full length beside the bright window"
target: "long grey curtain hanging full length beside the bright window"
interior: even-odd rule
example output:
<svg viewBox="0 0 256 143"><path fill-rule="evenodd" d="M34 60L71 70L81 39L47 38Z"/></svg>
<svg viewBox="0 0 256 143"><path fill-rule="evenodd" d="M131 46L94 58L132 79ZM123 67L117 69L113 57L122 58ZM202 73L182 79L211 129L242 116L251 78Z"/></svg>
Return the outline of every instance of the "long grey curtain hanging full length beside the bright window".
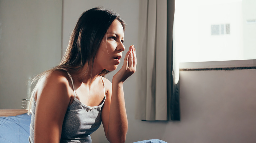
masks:
<svg viewBox="0 0 256 143"><path fill-rule="evenodd" d="M180 120L174 8L175 0L140 0L137 118L142 120Z"/></svg>

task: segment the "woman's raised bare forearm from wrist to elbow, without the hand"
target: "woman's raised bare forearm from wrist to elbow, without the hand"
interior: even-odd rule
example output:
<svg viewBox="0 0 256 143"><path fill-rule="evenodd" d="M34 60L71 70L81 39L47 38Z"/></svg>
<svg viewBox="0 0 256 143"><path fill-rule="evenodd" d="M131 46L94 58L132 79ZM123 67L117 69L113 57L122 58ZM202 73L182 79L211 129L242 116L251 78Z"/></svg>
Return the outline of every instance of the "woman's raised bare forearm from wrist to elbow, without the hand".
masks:
<svg viewBox="0 0 256 143"><path fill-rule="evenodd" d="M108 136L110 142L124 142L128 120L124 102L123 82L112 83Z"/></svg>

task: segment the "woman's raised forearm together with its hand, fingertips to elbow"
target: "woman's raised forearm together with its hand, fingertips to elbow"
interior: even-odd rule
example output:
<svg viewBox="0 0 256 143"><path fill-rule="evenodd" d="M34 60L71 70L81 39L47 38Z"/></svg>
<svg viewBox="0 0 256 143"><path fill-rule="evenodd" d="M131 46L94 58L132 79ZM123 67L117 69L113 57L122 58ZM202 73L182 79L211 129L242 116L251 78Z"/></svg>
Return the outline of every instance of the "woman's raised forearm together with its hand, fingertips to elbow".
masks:
<svg viewBox="0 0 256 143"><path fill-rule="evenodd" d="M105 132L112 142L125 142L128 120L124 103L123 82L136 71L137 58L134 45L131 45L124 58L122 68L113 76L112 95L109 107L108 128Z"/></svg>

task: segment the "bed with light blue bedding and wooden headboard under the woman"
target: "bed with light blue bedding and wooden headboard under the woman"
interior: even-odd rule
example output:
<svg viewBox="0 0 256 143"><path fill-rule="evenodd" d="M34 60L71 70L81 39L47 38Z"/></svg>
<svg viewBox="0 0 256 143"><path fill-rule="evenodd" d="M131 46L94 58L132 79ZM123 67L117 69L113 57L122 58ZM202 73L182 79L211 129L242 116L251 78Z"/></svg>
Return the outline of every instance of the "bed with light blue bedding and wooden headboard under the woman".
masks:
<svg viewBox="0 0 256 143"><path fill-rule="evenodd" d="M0 143L28 143L31 115L27 109L0 110ZM134 143L166 143L150 139Z"/></svg>

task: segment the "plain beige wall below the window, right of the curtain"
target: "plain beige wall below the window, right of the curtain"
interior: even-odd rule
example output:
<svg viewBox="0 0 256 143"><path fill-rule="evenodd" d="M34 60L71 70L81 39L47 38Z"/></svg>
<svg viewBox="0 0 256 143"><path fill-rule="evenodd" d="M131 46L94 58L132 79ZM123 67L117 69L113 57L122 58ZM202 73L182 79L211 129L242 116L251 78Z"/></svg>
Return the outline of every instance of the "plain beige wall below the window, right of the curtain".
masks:
<svg viewBox="0 0 256 143"><path fill-rule="evenodd" d="M169 142L256 141L256 70L181 71L181 121L168 123Z"/></svg>

